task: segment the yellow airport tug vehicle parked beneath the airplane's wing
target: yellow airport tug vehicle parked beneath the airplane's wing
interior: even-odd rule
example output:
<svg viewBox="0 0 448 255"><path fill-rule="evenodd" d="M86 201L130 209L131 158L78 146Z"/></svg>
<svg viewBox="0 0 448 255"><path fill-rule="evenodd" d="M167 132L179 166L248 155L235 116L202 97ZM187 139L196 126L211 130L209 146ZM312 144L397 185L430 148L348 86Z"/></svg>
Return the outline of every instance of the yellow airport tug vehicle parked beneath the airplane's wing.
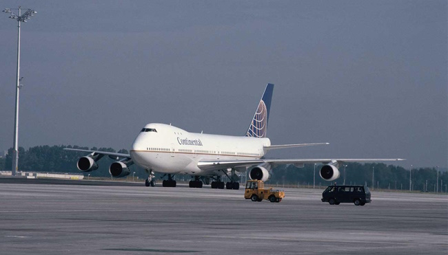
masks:
<svg viewBox="0 0 448 255"><path fill-rule="evenodd" d="M246 190L244 192L245 199L250 199L254 202L261 202L265 199L272 203L278 203L282 201L283 197L285 197L285 191L265 188L265 184L261 180L250 180L246 183Z"/></svg>

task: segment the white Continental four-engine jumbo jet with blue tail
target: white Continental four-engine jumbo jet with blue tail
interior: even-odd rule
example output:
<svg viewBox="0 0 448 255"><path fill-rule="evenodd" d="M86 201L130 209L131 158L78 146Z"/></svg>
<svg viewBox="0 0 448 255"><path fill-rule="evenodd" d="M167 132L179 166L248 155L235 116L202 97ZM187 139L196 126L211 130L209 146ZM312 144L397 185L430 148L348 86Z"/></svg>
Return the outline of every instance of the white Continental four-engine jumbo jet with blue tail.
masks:
<svg viewBox="0 0 448 255"><path fill-rule="evenodd" d="M89 153L77 162L82 172L98 168L96 163L103 156L116 159L109 167L113 177L125 177L130 174L129 166L136 164L147 172L145 186L155 186L154 173L167 177L163 187L176 187L175 175L191 175L190 188L202 188L211 184L211 188L239 189L238 173L248 171L250 179L267 181L272 168L278 164L323 164L319 175L325 181L334 181L340 177L338 168L346 162L383 162L404 159L266 159L267 152L281 148L316 146L329 144L281 144L271 145L266 137L274 84L268 83L261 97L254 117L245 135L210 135L190 133L171 124L146 124L132 143L130 154L90 151L77 148L65 148L68 151ZM230 181L226 184L223 177ZM162 177L162 178L163 178ZM211 181L211 182L210 182Z"/></svg>

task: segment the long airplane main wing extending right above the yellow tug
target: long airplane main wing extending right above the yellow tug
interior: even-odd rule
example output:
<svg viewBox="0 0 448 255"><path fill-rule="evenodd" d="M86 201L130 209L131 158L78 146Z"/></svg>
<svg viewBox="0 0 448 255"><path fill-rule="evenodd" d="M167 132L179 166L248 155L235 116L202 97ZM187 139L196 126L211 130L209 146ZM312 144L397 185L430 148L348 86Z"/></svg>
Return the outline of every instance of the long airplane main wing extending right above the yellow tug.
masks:
<svg viewBox="0 0 448 255"><path fill-rule="evenodd" d="M258 166L261 164L294 164L301 166L303 164L314 163L344 163L344 162L383 162L383 161L401 161L405 159L254 159L254 160L216 160L198 162L198 168L202 170L221 170L225 168L242 168Z"/></svg>

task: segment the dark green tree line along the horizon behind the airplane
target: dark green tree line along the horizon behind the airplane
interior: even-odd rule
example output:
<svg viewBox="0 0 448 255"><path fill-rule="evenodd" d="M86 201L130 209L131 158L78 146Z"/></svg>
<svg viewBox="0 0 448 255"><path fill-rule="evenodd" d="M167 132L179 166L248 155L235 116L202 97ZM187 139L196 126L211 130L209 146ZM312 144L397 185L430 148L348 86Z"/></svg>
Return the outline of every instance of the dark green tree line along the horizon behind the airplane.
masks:
<svg viewBox="0 0 448 255"><path fill-rule="evenodd" d="M116 152L114 148L88 148L82 146L34 146L25 150L19 147L19 170L26 172L45 172L45 173L81 173L77 168L79 157L87 153L64 151L63 148L79 148L84 150L98 150ZM118 153L128 153L121 149ZM98 162L99 168L90 172L92 177L110 177L109 166L116 159L103 157ZM0 158L0 170L11 170L12 148L8 150L6 157ZM330 181L324 181L319 176L321 164L307 164L303 168L297 168L294 165L280 165L272 170L272 177L269 184L285 185L309 185L314 183L316 186L327 186ZM345 176L344 176L345 168ZM143 169L136 165L130 166L131 173L135 172L136 177L146 178ZM409 190L409 169L401 166L387 165L383 163L347 163L346 166L340 166L340 177L336 179L337 184L367 184L369 187L391 190ZM314 175L315 173L315 175ZM85 174L87 175L87 174ZM372 175L374 175L374 184L372 184ZM187 178L185 178L187 179ZM414 168L411 172L412 190L434 191L436 186L437 170L436 168ZM440 171L438 176L438 189L446 190L448 184L448 172ZM440 183L441 181L441 183Z"/></svg>

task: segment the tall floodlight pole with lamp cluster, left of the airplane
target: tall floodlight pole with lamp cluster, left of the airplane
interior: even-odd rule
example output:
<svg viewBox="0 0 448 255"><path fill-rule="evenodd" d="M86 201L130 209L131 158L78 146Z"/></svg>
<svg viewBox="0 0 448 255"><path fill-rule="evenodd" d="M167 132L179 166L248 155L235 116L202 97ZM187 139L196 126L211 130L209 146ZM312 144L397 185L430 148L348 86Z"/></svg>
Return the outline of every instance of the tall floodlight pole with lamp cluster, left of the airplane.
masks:
<svg viewBox="0 0 448 255"><path fill-rule="evenodd" d="M12 12L12 10L19 10L19 15ZM3 12L10 14L10 19L15 19L18 23L17 25L17 78L16 78L16 109L14 115L14 148L12 151L12 168L11 175L15 176L19 164L19 151L18 151L18 141L19 141L19 90L21 88L20 81L20 23L27 22L33 14L37 13L35 10L28 9L24 14L21 14L21 7L19 9L6 8Z"/></svg>

